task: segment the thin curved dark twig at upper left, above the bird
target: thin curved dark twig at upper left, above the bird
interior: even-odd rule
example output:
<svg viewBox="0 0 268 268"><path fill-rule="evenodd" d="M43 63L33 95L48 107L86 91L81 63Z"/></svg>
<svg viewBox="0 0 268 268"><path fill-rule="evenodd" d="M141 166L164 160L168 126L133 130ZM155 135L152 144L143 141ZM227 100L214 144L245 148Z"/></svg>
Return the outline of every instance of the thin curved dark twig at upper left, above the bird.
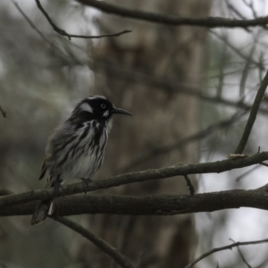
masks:
<svg viewBox="0 0 268 268"><path fill-rule="evenodd" d="M54 22L51 20L51 18L49 17L48 13L46 13L46 10L43 8L42 4L40 3L39 0L36 0L36 3L38 5L38 9L41 11L41 13L44 14L44 16L46 17L46 20L49 22L49 24L52 26L52 28L54 29L54 31L56 31L57 33L59 33L60 35L69 38L69 40L71 40L71 38L84 38L84 39L94 39L94 38L113 38L113 37L119 37L123 34L126 33L130 33L132 30L126 29L126 30L122 30L120 32L116 32L116 33L112 33L112 34L106 34L106 35L99 35L99 36L83 36L83 35L73 35L73 34L69 34L67 33L64 29L60 29L59 27L57 27Z"/></svg>

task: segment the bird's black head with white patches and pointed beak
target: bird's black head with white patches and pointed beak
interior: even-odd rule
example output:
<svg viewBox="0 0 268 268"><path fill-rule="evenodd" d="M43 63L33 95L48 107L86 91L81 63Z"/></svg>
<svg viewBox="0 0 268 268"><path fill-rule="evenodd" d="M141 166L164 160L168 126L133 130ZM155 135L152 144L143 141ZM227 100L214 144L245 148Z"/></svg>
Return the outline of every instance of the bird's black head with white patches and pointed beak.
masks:
<svg viewBox="0 0 268 268"><path fill-rule="evenodd" d="M132 115L130 112L116 108L105 96L88 96L76 106L72 115L85 121L108 120L113 113Z"/></svg>

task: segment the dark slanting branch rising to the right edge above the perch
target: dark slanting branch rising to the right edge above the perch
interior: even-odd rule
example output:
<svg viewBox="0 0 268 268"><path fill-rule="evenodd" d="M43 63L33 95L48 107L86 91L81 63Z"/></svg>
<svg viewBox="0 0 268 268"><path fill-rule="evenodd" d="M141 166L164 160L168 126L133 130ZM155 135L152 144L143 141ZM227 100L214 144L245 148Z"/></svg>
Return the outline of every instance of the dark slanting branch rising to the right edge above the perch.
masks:
<svg viewBox="0 0 268 268"><path fill-rule="evenodd" d="M265 93L267 86L268 86L268 71L266 72L266 74L264 76L264 80L262 81L261 86L257 91L254 103L252 105L252 109L251 109L249 116L248 116L245 130L244 130L242 137L239 141L239 146L236 148L234 154L242 154L244 151L244 148L247 145L247 140L249 138L250 132L251 132L252 127L254 125L256 114L258 113L259 106L262 102L262 99L264 97L264 93Z"/></svg>

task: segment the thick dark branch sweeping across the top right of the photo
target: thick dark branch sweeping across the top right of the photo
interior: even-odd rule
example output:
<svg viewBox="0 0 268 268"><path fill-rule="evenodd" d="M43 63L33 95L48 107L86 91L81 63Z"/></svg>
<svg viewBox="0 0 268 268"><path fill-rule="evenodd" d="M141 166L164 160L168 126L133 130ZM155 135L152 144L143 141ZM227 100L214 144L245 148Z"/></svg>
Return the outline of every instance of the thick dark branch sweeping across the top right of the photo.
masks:
<svg viewBox="0 0 268 268"><path fill-rule="evenodd" d="M104 1L96 0L77 0L81 4L85 4L94 7L104 13L112 13L122 17L127 17L135 20L150 21L160 24L167 24L173 26L197 26L205 28L247 28L255 26L265 26L268 24L268 16L259 17L253 20L235 20L226 19L220 17L208 17L208 18L186 18L168 14L149 13L137 10L131 10L124 7L116 6L114 4L108 4Z"/></svg>

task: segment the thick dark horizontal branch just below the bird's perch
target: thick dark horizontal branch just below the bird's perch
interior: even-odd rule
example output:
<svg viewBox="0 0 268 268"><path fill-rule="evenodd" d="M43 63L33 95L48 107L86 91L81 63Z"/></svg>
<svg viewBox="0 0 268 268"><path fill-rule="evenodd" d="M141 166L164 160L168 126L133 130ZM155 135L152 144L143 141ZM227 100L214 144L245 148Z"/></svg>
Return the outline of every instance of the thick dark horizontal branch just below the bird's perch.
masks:
<svg viewBox="0 0 268 268"><path fill-rule="evenodd" d="M55 215L124 214L174 215L214 212L222 209L253 207L268 210L268 185L253 190L228 190L187 195L152 195L126 197L112 195L80 195L55 199ZM0 208L0 216L29 215L36 202L7 205Z"/></svg>

